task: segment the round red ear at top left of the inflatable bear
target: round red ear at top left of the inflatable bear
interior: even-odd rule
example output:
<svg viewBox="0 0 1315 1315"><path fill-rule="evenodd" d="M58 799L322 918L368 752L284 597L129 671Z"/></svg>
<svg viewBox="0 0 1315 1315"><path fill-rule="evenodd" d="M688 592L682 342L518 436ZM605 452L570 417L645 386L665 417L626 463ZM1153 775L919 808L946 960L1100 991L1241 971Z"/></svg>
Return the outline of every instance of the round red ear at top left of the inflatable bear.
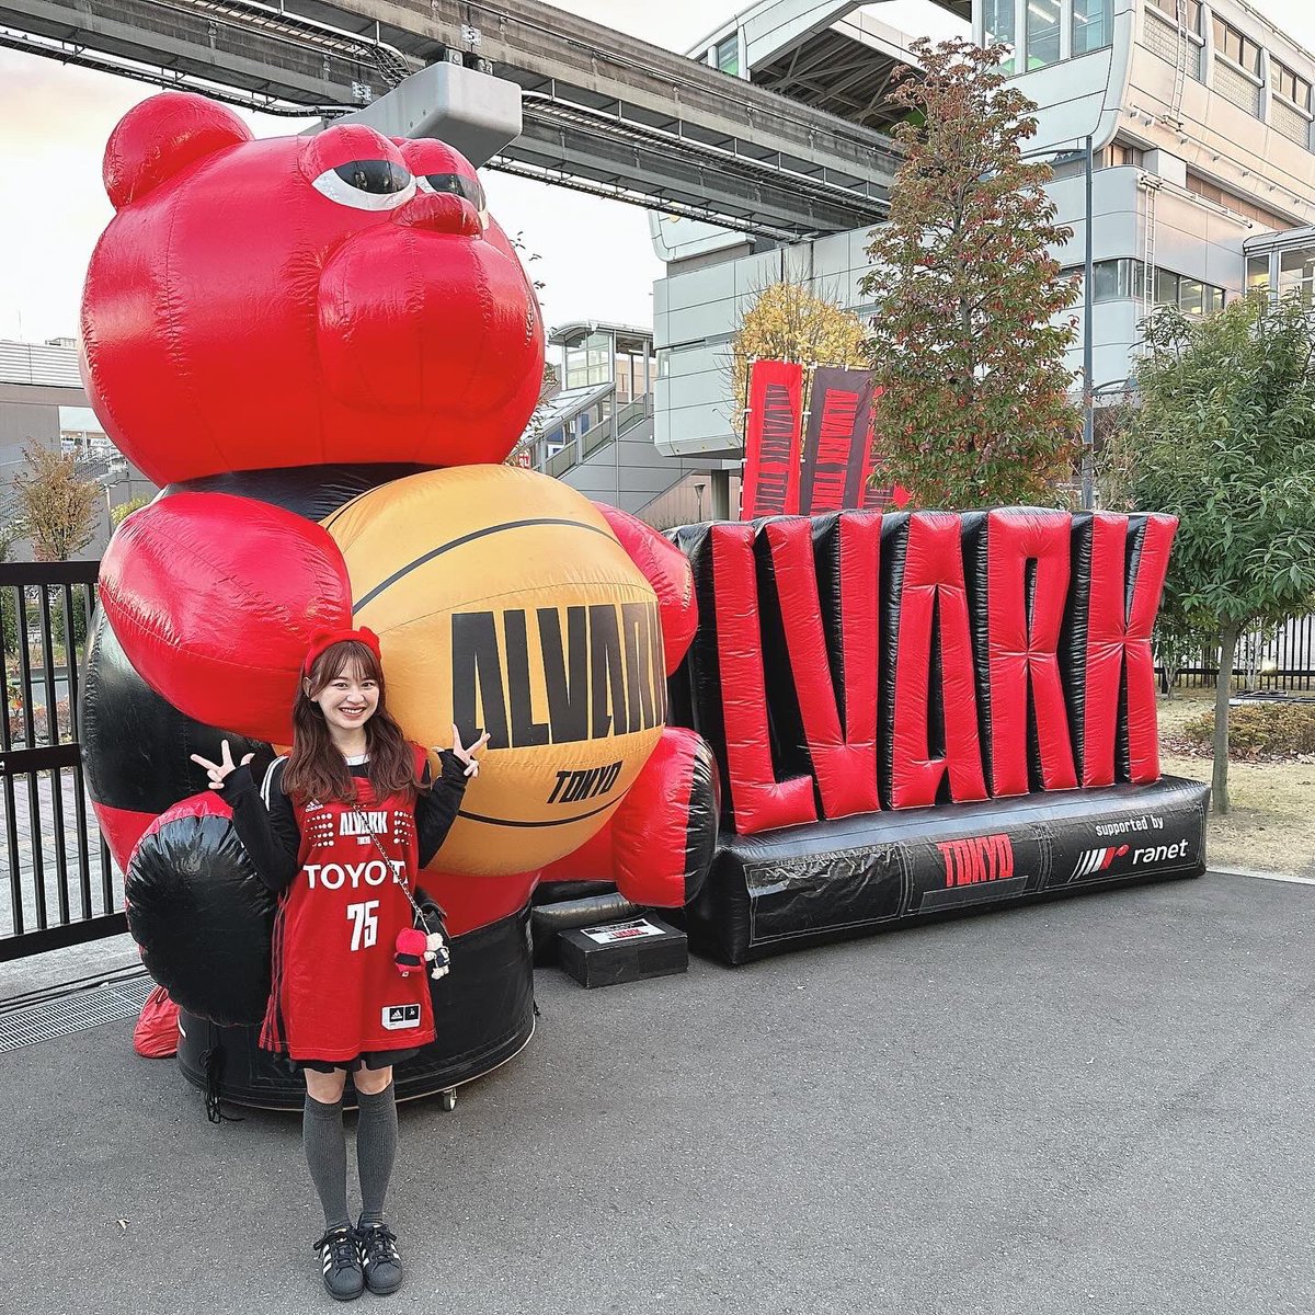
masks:
<svg viewBox="0 0 1315 1315"><path fill-rule="evenodd" d="M246 124L213 100L184 91L151 96L118 121L105 145L110 205L121 210L193 160L249 141Z"/></svg>

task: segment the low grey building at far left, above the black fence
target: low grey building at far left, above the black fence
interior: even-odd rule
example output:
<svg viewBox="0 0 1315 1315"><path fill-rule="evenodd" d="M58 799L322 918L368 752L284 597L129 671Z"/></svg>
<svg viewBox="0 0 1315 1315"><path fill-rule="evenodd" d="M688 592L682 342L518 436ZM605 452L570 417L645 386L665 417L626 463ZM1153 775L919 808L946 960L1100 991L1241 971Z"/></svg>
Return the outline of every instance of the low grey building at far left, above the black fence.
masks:
<svg viewBox="0 0 1315 1315"><path fill-rule="evenodd" d="M0 341L0 509L13 515L13 479L25 468L24 448L37 443L71 454L83 479L103 490L96 530L78 556L96 560L109 542L109 509L130 498L154 496L155 485L130 466L109 441L83 392L78 343ZM32 559L26 539L14 542L9 560Z"/></svg>

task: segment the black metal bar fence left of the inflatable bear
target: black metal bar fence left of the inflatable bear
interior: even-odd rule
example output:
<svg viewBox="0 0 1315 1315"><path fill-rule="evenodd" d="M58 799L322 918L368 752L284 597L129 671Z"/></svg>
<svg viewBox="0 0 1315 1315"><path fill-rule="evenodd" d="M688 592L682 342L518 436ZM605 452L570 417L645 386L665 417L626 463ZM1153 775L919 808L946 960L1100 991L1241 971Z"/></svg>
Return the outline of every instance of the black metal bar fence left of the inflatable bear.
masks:
<svg viewBox="0 0 1315 1315"><path fill-rule="evenodd" d="M78 682L96 562L0 563L0 960L126 930L124 882L83 788Z"/></svg>

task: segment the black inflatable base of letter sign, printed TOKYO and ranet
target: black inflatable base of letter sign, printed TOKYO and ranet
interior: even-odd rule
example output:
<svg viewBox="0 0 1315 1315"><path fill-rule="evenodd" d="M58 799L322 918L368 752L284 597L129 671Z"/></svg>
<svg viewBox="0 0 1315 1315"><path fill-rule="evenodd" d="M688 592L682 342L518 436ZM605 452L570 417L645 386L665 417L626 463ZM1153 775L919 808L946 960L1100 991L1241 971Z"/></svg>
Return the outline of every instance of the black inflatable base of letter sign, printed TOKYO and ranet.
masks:
<svg viewBox="0 0 1315 1315"><path fill-rule="evenodd" d="M686 910L729 964L1007 903L1205 872L1208 786L1027 794L723 836Z"/></svg>

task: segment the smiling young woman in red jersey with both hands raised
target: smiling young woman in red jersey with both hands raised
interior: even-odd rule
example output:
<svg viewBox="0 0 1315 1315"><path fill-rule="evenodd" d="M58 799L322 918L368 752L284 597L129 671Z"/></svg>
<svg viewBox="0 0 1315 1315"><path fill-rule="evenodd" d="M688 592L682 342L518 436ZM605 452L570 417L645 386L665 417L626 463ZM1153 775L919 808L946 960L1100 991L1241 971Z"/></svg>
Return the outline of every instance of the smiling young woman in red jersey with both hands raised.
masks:
<svg viewBox="0 0 1315 1315"><path fill-rule="evenodd" d="M454 726L452 748L435 750L442 775L431 781L425 750L406 742L384 706L379 639L364 629L313 638L292 722L292 752L270 765L259 790L251 755L235 765L227 740L218 763L192 759L231 805L260 880L279 896L260 1044L305 1074L302 1139L325 1211L314 1245L325 1287L351 1301L364 1287L392 1293L402 1281L397 1239L384 1222L397 1148L393 1065L434 1039L434 1016L427 965L401 953L398 932L410 931L426 905L427 930L441 927L442 910L416 876L443 843L488 735L464 748ZM430 947L441 976L446 947L437 938ZM360 1111L355 1226L342 1119L348 1073Z"/></svg>

